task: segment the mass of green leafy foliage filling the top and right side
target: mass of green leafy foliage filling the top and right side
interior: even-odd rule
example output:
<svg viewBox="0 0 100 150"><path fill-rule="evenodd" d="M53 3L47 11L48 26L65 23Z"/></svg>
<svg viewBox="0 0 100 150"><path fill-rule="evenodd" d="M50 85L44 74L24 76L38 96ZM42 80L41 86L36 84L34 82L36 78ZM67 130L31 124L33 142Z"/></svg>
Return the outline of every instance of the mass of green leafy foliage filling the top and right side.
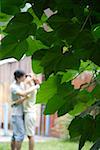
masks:
<svg viewBox="0 0 100 150"><path fill-rule="evenodd" d="M0 59L32 56L33 71L46 78L37 95L44 113L76 115L69 132L80 137L79 150L87 140L99 149L100 111L91 113L100 108L99 0L1 0L1 12ZM90 82L75 89L72 81L86 70Z"/></svg>

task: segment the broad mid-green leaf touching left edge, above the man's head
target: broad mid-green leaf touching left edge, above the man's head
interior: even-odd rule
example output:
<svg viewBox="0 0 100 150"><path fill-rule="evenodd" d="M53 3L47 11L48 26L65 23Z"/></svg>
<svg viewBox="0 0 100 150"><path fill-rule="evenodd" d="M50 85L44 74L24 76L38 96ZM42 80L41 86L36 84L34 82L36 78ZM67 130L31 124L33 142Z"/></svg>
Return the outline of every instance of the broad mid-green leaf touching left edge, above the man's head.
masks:
<svg viewBox="0 0 100 150"><path fill-rule="evenodd" d="M6 36L1 41L0 59L6 59L14 57L21 59L28 49L28 43L26 40L17 41L12 36Z"/></svg>

